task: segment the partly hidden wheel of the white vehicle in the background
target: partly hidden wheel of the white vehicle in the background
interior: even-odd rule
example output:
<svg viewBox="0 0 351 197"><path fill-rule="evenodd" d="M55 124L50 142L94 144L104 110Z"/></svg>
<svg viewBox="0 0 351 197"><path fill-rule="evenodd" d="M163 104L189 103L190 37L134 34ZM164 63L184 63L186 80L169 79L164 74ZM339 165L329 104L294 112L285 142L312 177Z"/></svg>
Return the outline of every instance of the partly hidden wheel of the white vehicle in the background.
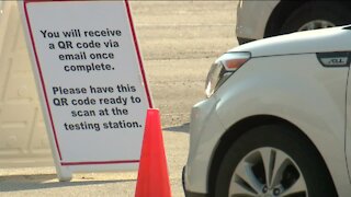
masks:
<svg viewBox="0 0 351 197"><path fill-rule="evenodd" d="M351 22L350 10L340 2L310 1L295 10L284 22L281 34L346 25Z"/></svg>

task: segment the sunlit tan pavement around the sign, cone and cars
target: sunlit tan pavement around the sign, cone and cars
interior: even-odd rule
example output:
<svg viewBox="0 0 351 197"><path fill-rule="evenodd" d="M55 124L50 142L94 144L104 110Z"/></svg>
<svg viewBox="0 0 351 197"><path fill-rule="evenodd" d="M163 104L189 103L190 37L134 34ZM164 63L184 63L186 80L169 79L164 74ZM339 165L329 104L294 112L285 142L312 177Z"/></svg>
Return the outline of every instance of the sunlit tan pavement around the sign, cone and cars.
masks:
<svg viewBox="0 0 351 197"><path fill-rule="evenodd" d="M184 196L181 170L189 148L191 106L204 99L211 63L237 45L237 1L132 1L154 105L161 112L172 195ZM30 67L30 65L29 65ZM134 196L136 172L75 174L55 169L0 169L0 196Z"/></svg>

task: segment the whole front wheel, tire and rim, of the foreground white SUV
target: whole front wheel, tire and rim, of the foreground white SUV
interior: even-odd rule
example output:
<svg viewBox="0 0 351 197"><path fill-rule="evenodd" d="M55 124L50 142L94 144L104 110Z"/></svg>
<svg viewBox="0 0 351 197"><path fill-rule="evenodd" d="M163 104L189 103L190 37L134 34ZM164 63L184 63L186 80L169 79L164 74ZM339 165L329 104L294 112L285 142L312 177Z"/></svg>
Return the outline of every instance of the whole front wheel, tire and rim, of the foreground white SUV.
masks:
<svg viewBox="0 0 351 197"><path fill-rule="evenodd" d="M222 161L215 196L337 196L319 153L298 132L270 125L241 136Z"/></svg>

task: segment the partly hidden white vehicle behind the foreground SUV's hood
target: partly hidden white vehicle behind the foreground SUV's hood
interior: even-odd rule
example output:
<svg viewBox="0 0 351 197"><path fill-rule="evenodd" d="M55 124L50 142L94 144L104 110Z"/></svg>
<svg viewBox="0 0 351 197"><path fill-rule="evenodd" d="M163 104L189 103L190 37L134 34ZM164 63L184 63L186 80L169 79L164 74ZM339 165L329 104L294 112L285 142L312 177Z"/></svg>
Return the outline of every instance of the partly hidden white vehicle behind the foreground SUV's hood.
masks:
<svg viewBox="0 0 351 197"><path fill-rule="evenodd" d="M351 23L351 1L239 0L239 44L280 34Z"/></svg>

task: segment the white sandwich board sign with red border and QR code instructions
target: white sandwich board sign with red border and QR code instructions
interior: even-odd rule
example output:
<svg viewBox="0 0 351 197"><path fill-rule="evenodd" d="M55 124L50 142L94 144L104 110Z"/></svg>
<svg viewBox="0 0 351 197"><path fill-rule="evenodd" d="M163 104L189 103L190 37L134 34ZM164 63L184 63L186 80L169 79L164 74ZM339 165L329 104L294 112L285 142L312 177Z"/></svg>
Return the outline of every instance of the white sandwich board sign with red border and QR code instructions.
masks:
<svg viewBox="0 0 351 197"><path fill-rule="evenodd" d="M128 2L21 3L58 178L137 170L151 97Z"/></svg>

